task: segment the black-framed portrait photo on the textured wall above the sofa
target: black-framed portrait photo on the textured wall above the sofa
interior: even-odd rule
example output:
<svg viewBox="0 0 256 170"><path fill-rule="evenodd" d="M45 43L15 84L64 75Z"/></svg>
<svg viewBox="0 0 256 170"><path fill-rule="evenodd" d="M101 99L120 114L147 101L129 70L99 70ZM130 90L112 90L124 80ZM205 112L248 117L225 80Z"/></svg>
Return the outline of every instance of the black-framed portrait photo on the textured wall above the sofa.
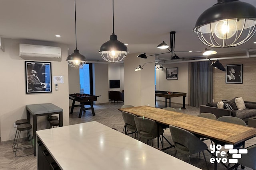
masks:
<svg viewBox="0 0 256 170"><path fill-rule="evenodd" d="M243 64L226 65L226 83L243 83Z"/></svg>

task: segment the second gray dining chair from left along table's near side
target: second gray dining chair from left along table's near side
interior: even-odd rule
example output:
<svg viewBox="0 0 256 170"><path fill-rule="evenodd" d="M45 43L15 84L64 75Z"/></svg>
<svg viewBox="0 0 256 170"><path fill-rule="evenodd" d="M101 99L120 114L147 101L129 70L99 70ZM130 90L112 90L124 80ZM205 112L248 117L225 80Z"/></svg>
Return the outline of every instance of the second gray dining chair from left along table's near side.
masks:
<svg viewBox="0 0 256 170"><path fill-rule="evenodd" d="M140 138L147 139L147 144L150 144L151 146L153 146L153 139L164 133L163 128L158 126L156 122L151 119L134 117L134 121L137 127L139 140ZM161 138L160 141L163 147Z"/></svg>

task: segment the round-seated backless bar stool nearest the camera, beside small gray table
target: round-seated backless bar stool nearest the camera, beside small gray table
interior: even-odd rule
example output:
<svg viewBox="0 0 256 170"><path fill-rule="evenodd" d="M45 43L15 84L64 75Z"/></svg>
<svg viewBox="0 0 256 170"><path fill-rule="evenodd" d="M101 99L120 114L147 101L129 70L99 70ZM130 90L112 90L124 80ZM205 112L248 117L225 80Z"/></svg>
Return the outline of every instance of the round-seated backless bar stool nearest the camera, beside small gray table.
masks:
<svg viewBox="0 0 256 170"><path fill-rule="evenodd" d="M31 133L30 133L30 129L32 129L32 125L29 124L29 123L24 123L24 124L21 124L21 125L17 126L18 134L17 134L17 137L14 139L15 145L14 145L14 149L13 149L13 152L15 152L15 154L14 154L15 157L22 157L22 156L16 156L17 151L24 150L24 149L30 147L30 146L27 146L27 147L18 148L18 144L20 143L20 134L21 134L22 131L27 131L28 139L29 139L30 144L32 146L31 148L33 148L33 139L32 139ZM33 152L31 154L33 154ZM30 154L26 154L24 156L28 156L28 155L30 155Z"/></svg>

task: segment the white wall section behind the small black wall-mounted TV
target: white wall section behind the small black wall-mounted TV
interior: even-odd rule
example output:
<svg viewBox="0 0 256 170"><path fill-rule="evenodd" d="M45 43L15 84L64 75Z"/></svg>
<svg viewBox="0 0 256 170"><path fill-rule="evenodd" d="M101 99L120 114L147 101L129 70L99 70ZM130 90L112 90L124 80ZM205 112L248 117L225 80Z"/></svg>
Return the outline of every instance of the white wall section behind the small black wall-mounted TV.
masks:
<svg viewBox="0 0 256 170"><path fill-rule="evenodd" d="M120 88L109 88L110 90L124 90L124 64L123 63L108 63L108 87L109 80L120 80Z"/></svg>

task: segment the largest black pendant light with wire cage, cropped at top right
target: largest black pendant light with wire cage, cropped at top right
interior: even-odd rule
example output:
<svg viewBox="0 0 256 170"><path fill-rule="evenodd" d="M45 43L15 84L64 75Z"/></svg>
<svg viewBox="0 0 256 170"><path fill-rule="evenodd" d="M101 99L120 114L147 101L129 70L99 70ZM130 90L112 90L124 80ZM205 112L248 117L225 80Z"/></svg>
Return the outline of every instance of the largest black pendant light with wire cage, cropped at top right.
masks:
<svg viewBox="0 0 256 170"><path fill-rule="evenodd" d="M239 0L218 0L199 16L193 31L209 47L241 45L256 31L256 8Z"/></svg>

